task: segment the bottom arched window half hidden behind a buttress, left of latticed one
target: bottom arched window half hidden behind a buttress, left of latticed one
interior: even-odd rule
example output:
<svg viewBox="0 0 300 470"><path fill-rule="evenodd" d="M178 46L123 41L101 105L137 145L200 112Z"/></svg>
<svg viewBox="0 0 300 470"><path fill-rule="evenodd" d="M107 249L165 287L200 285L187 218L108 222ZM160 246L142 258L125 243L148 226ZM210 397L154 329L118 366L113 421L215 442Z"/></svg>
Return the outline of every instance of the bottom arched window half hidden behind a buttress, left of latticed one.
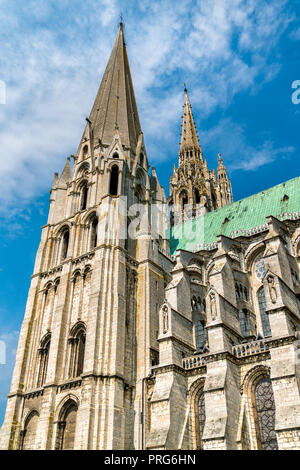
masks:
<svg viewBox="0 0 300 470"><path fill-rule="evenodd" d="M202 435L205 424L205 378L197 379L188 391L190 450L203 449Z"/></svg>

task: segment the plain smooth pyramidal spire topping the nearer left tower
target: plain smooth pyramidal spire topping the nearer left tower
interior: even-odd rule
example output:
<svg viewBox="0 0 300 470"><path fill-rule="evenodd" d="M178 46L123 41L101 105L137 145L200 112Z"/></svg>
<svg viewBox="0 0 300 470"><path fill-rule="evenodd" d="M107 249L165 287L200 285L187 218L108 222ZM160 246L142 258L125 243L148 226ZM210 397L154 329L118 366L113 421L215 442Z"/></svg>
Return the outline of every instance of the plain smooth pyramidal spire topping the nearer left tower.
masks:
<svg viewBox="0 0 300 470"><path fill-rule="evenodd" d="M110 145L118 129L122 144L135 152L141 126L122 22L89 120L95 142Z"/></svg>

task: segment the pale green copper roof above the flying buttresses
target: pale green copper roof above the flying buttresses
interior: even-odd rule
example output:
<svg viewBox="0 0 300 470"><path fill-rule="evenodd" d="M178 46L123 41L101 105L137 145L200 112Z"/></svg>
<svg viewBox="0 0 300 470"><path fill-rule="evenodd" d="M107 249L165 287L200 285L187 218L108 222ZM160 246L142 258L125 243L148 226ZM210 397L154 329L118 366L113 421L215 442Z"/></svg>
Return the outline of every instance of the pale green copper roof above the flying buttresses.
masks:
<svg viewBox="0 0 300 470"><path fill-rule="evenodd" d="M274 186L213 212L187 220L171 229L170 249L197 249L197 245L211 244L218 235L236 237L266 224L266 217L300 211L300 177Z"/></svg>

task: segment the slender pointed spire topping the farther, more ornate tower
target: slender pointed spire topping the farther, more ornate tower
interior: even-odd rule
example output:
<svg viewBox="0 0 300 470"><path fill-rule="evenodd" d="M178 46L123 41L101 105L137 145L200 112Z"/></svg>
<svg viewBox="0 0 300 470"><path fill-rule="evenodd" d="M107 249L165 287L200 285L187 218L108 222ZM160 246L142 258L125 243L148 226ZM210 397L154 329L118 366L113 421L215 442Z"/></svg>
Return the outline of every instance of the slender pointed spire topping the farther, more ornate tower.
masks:
<svg viewBox="0 0 300 470"><path fill-rule="evenodd" d="M191 149L201 150L201 147L197 136L196 126L192 113L192 106L189 100L187 89L185 87L180 151Z"/></svg>

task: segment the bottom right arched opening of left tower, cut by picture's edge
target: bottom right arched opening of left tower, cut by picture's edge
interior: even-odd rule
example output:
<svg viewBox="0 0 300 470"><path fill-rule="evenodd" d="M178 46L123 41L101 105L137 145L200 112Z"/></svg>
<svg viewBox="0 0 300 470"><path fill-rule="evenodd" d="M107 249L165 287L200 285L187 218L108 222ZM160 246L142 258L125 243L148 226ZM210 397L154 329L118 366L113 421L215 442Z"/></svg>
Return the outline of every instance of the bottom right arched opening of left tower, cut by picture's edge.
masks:
<svg viewBox="0 0 300 470"><path fill-rule="evenodd" d="M74 400L64 405L59 421L56 439L56 450L73 450L76 434L78 406Z"/></svg>

